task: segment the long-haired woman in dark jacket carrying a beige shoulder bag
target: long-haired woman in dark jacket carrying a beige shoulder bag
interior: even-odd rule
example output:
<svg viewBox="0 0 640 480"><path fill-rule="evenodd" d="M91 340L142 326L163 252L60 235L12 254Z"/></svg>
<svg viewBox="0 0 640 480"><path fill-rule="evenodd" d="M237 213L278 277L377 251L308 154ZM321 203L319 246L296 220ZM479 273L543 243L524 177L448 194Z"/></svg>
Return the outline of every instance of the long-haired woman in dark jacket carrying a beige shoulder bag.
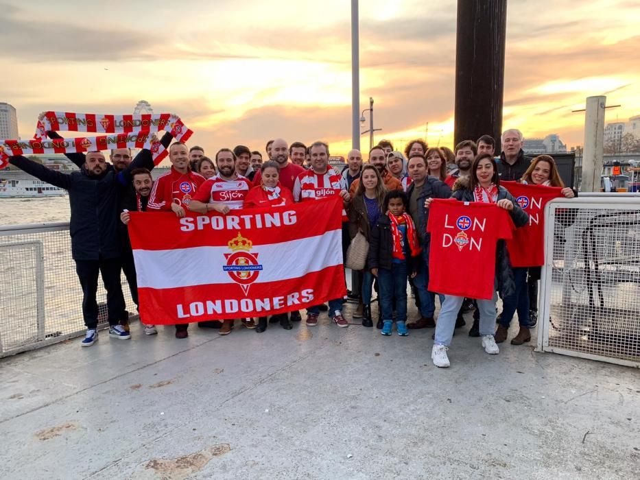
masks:
<svg viewBox="0 0 640 480"><path fill-rule="evenodd" d="M380 173L373 165L365 165L360 174L360 183L355 191L355 197L348 206L349 237L353 239L357 232L361 232L369 241L371 229L375 226L380 215L384 215L382 204L387 189ZM368 265L359 272L362 291L360 302L353 317L362 316L363 326L373 326L371 318L371 296L373 275ZM361 307L362 305L362 307ZM361 313L362 312L362 313Z"/></svg>

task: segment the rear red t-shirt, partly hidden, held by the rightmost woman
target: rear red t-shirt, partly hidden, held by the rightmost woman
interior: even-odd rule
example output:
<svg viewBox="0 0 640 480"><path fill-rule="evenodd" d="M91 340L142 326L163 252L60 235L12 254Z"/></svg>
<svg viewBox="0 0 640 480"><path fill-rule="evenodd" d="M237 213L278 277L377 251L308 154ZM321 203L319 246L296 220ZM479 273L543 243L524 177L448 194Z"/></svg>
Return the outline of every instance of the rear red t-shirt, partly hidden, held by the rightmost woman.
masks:
<svg viewBox="0 0 640 480"><path fill-rule="evenodd" d="M563 197L561 187L500 182L529 214L529 224L518 228L507 248L514 267L541 267L545 263L545 205Z"/></svg>

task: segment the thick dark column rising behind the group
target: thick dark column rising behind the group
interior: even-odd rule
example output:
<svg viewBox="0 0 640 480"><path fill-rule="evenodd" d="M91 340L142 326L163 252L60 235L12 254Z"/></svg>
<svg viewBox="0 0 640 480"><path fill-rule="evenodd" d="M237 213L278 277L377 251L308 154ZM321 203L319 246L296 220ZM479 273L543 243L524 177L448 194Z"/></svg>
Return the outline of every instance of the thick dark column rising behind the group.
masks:
<svg viewBox="0 0 640 480"><path fill-rule="evenodd" d="M506 0L458 0L454 142L488 134L500 152Z"/></svg>

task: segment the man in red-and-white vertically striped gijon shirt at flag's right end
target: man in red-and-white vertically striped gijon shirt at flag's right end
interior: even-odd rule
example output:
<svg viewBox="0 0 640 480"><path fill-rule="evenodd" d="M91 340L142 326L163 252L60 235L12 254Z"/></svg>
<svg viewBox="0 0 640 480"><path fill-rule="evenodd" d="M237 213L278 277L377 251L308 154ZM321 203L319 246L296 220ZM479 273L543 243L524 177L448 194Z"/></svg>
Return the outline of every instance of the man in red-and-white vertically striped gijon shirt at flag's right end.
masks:
<svg viewBox="0 0 640 480"><path fill-rule="evenodd" d="M284 141L283 141L284 142ZM274 152L276 143L274 142ZM346 191L346 182L332 167L329 166L329 145L316 141L311 144L311 169L300 173L294 185L294 200L305 202L310 200L320 200L330 195L340 195L343 202L351 200ZM347 221L346 212L343 211L343 223ZM344 228L343 228L344 231ZM329 300L329 316L333 317L333 322L337 326L349 326L342 316L342 298ZM307 325L318 324L320 306L316 305L307 309Z"/></svg>

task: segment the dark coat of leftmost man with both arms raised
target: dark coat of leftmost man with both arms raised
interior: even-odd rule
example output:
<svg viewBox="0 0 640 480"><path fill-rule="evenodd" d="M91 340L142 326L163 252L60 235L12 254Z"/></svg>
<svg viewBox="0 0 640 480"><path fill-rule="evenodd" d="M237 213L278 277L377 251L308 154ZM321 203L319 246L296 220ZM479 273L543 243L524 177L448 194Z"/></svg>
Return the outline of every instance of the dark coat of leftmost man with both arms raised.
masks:
<svg viewBox="0 0 640 480"><path fill-rule="evenodd" d="M74 260L115 259L120 255L118 241L118 196L122 185L130 184L130 171L153 168L151 154L138 154L129 167L116 173L107 164L99 176L80 171L69 174L50 170L21 155L9 162L43 182L69 191L71 206L71 256Z"/></svg>

